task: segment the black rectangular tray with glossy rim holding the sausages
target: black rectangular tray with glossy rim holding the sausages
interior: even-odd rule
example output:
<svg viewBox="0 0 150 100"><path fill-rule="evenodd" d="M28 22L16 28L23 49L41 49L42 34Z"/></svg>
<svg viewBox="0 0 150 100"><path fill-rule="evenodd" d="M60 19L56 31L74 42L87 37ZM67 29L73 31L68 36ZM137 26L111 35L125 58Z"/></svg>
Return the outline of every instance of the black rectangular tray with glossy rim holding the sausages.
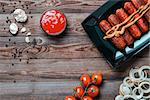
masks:
<svg viewBox="0 0 150 100"><path fill-rule="evenodd" d="M150 31L144 33L139 40L136 40L132 47L127 46L123 51L119 51L110 41L103 39L104 33L99 28L98 23L110 14L115 13L116 9L123 7L125 1L109 0L82 22L84 30L113 69L119 68L128 62L129 59L150 44Z"/></svg>

